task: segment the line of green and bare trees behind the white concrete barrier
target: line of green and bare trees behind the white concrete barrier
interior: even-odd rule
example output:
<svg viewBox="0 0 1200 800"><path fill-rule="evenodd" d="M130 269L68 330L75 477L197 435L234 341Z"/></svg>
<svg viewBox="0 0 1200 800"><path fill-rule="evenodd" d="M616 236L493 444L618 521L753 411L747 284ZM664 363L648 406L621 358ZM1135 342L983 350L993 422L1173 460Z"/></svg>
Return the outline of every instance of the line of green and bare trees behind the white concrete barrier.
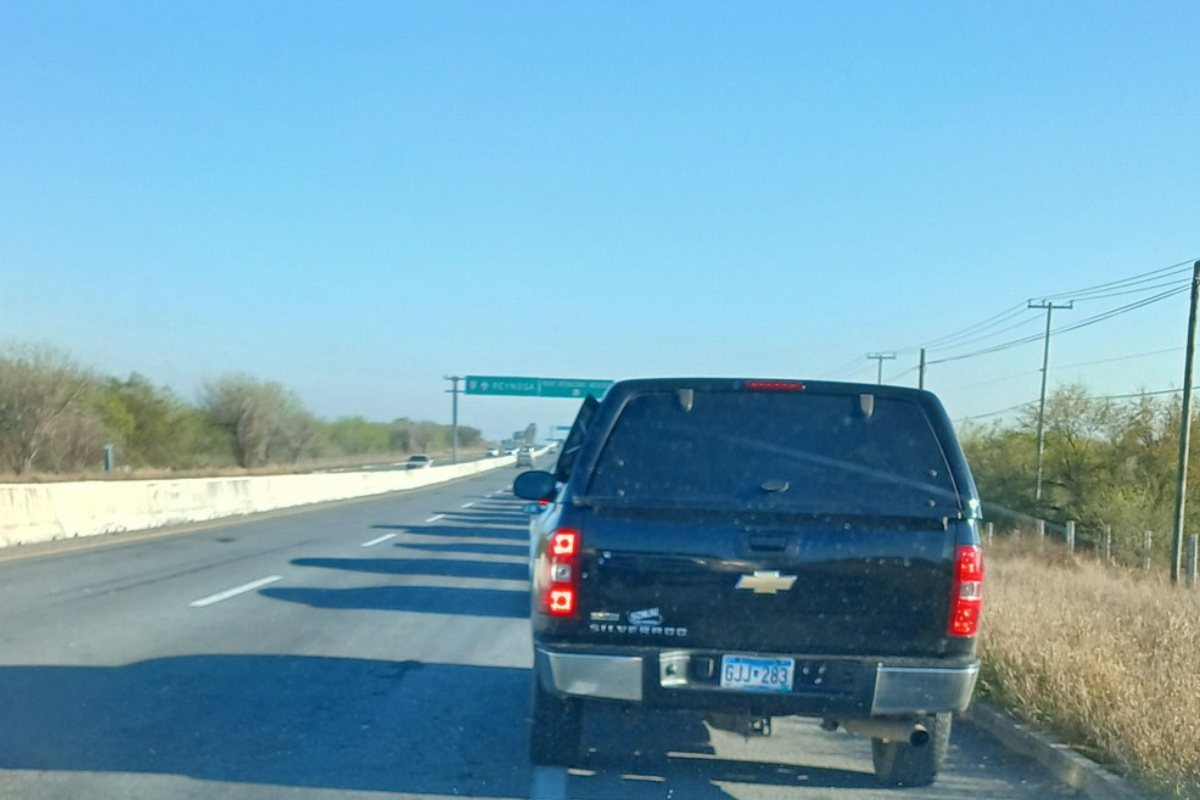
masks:
<svg viewBox="0 0 1200 800"><path fill-rule="evenodd" d="M272 473L370 464L451 449L451 428L407 417L318 419L284 386L246 373L205 383L196 402L139 374L115 378L40 345L0 350L0 480ZM460 426L462 451L481 450Z"/></svg>

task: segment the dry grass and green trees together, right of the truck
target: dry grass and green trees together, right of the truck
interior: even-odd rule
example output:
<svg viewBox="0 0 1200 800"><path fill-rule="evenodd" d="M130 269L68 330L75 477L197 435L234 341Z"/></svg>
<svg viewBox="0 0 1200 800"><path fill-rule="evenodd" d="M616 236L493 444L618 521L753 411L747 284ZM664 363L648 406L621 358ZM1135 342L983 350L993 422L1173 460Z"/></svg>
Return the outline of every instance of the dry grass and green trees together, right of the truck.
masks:
<svg viewBox="0 0 1200 800"><path fill-rule="evenodd" d="M1180 399L1049 397L1040 503L1036 415L961 432L995 531L982 693L1117 772L1200 800L1200 590L1169 581ZM1200 530L1196 467L1188 533Z"/></svg>

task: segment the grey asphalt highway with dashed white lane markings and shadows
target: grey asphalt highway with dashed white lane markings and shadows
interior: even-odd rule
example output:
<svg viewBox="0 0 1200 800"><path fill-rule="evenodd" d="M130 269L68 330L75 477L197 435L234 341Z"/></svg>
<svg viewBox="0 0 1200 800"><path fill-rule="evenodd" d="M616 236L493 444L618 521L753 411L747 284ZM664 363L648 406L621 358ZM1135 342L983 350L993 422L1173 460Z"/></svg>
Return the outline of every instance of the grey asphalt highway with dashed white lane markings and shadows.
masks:
<svg viewBox="0 0 1200 800"><path fill-rule="evenodd" d="M1073 796L968 726L929 789L798 720L605 711L588 769L532 768L514 474L0 560L0 798Z"/></svg>

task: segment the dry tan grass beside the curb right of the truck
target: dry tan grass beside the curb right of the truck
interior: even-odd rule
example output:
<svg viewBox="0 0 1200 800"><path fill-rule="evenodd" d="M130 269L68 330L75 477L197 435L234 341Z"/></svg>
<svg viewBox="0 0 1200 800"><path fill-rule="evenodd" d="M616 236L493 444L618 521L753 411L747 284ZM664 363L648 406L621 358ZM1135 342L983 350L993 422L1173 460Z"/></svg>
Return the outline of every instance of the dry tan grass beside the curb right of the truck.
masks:
<svg viewBox="0 0 1200 800"><path fill-rule="evenodd" d="M985 603L990 699L1117 771L1200 799L1200 591L1052 545L997 542Z"/></svg>

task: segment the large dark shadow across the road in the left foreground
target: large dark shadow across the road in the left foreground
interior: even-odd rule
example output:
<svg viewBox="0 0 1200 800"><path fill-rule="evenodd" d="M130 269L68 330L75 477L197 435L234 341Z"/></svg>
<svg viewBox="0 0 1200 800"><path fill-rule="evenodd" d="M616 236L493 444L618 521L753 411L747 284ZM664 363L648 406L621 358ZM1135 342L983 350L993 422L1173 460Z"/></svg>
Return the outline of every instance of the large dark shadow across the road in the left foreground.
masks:
<svg viewBox="0 0 1200 800"><path fill-rule="evenodd" d="M0 768L527 796L524 669L296 656L0 667Z"/></svg>

